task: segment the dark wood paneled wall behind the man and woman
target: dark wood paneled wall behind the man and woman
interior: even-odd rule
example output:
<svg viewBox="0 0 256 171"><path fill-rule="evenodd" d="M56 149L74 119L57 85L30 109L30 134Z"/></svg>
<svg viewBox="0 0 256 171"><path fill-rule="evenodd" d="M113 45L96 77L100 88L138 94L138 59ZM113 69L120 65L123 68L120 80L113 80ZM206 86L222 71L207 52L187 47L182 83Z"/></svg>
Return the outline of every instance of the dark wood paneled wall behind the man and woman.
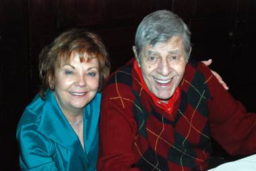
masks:
<svg viewBox="0 0 256 171"><path fill-rule="evenodd" d="M191 57L214 59L230 92L255 111L255 0L0 0L0 170L18 170L15 129L40 85L40 50L67 28L86 28L102 37L114 70L133 57L137 25L157 9L183 18Z"/></svg>

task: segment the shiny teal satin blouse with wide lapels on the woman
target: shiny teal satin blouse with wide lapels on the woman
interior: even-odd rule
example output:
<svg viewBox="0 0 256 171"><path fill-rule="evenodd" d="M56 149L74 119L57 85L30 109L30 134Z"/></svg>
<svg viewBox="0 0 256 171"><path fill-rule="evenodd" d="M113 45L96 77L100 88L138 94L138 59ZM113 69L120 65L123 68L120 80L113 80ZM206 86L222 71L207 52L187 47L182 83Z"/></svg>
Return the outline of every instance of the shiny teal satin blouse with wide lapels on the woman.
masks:
<svg viewBox="0 0 256 171"><path fill-rule="evenodd" d="M36 95L17 129L22 170L96 170L101 94L84 109L84 148L51 90Z"/></svg>

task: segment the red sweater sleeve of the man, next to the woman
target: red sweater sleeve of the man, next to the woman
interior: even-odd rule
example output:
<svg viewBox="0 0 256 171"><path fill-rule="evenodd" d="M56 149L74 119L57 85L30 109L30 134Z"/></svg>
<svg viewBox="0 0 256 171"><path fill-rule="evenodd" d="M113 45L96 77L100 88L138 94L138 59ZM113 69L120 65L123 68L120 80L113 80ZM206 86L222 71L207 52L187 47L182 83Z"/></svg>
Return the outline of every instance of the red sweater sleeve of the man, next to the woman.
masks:
<svg viewBox="0 0 256 171"><path fill-rule="evenodd" d="M139 171L135 168L133 141L137 126L133 118L133 93L122 83L102 92L98 171Z"/></svg>

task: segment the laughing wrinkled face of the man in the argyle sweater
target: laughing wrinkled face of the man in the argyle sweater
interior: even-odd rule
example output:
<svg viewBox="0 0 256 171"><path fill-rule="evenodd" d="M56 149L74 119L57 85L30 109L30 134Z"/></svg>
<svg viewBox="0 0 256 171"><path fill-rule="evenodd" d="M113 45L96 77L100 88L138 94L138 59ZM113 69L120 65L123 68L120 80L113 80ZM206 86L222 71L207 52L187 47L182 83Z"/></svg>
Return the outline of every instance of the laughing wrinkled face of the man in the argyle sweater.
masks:
<svg viewBox="0 0 256 171"><path fill-rule="evenodd" d="M183 79L187 64L183 38L173 36L167 42L144 46L137 62L150 92L167 102Z"/></svg>

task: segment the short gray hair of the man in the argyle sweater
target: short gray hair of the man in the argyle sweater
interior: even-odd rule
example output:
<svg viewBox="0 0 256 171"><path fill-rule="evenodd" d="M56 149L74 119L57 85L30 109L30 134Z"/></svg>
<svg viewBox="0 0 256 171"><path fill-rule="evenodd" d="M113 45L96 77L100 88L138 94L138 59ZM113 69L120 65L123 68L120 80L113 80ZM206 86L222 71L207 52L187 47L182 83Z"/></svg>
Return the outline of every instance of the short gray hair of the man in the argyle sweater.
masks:
<svg viewBox="0 0 256 171"><path fill-rule="evenodd" d="M188 60L191 49L190 34L189 28L178 15L167 10L155 11L143 18L137 28L135 35L137 55L140 56L143 46L147 44L155 46L159 42L167 42L173 36L181 36Z"/></svg>

